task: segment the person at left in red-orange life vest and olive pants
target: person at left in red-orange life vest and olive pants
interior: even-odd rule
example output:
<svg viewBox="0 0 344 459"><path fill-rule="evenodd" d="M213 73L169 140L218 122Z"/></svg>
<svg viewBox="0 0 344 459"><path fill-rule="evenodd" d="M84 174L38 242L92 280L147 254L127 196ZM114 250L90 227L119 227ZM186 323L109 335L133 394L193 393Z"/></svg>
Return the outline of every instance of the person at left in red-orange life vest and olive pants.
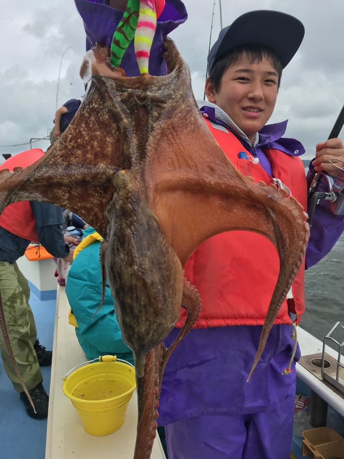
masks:
<svg viewBox="0 0 344 459"><path fill-rule="evenodd" d="M26 167L42 156L42 150L29 150L5 161L0 169ZM3 367L31 418L48 415L49 397L44 390L40 366L51 365L52 352L39 343L32 310L30 289L16 260L24 255L31 241L41 243L53 256L73 260L62 233L62 209L52 204L20 201L7 206L0 215L0 294L5 322L20 375L34 402L34 413L14 373L2 333L0 350Z"/></svg>

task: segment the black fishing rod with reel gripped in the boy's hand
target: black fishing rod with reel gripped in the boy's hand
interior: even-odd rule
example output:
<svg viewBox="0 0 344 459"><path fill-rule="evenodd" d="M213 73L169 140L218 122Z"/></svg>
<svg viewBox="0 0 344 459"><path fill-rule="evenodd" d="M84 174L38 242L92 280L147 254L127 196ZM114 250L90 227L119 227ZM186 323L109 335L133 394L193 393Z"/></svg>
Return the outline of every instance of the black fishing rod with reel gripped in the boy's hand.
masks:
<svg viewBox="0 0 344 459"><path fill-rule="evenodd" d="M339 136L344 125L344 105L338 118L332 128L332 131L329 135L329 139L335 139ZM328 140L329 140L328 139ZM334 161L339 161L344 163L344 161L338 158L330 158L330 163L340 169L336 183L329 174L325 171L313 171L311 176L308 179L307 189L308 189L308 200L310 201L310 210L309 210L309 225L312 227L314 212L317 204L320 200L330 201L330 210L333 214L343 215L344 214L344 165L339 167ZM318 192L321 178L325 177L328 188L330 192Z"/></svg>

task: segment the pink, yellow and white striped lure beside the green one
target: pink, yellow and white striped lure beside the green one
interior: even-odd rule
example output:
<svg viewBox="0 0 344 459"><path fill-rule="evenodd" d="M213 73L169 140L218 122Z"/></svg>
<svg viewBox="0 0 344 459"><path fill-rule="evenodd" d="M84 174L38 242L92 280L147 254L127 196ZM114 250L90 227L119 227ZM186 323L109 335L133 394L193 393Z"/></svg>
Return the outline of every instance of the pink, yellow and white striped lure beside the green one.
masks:
<svg viewBox="0 0 344 459"><path fill-rule="evenodd" d="M148 73L149 56L157 19L165 7L165 0L140 0L139 20L134 37L136 60L141 75Z"/></svg>

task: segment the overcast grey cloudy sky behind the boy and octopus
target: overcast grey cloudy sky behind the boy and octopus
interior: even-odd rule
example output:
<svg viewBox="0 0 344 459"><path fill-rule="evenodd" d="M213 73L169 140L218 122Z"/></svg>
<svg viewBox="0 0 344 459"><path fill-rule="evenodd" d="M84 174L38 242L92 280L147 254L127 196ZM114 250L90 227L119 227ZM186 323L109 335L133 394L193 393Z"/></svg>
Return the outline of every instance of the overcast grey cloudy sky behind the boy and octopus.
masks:
<svg viewBox="0 0 344 459"><path fill-rule="evenodd" d="M195 97L202 99L214 2L184 3L189 17L171 37L190 67ZM220 30L218 3L211 43ZM0 163L3 153L27 150L31 138L48 134L56 99L59 107L83 94L79 67L85 53L84 28L73 0L11 0L1 6ZM284 11L305 25L304 41L284 70L271 122L289 119L286 135L302 141L310 159L344 104L344 0L222 0L223 26L252 9ZM8 146L17 144L26 145ZM48 141L32 143L43 150L48 146Z"/></svg>

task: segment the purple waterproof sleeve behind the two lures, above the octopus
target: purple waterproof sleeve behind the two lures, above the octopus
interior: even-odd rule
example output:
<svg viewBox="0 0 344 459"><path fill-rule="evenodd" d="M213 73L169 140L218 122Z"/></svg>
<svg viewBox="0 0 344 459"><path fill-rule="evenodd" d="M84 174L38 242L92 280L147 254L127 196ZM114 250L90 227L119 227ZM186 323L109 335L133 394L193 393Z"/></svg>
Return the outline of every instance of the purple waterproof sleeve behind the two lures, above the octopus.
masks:
<svg viewBox="0 0 344 459"><path fill-rule="evenodd" d="M114 9L106 4L105 0L75 0L86 32L86 50L96 42L111 46L112 37L117 24L120 22L123 11ZM166 0L165 8L157 21L157 30L154 36L149 61L151 75L166 75L167 64L163 56L163 36L169 34L187 18L186 8L180 0ZM127 76L140 75L135 58L134 40L130 43L123 56L121 67Z"/></svg>

